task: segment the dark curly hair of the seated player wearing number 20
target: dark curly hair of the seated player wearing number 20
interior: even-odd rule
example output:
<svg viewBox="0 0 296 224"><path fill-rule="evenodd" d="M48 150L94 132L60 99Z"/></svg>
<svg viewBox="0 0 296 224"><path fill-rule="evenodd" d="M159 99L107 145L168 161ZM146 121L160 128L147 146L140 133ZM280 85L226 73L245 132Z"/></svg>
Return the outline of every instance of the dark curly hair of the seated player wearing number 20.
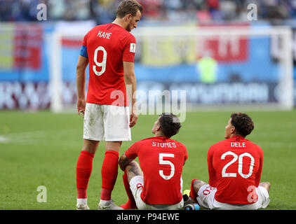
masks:
<svg viewBox="0 0 296 224"><path fill-rule="evenodd" d="M243 137L246 137L254 129L254 123L252 118L246 113L232 113L231 116L231 125L236 128L236 134L241 134Z"/></svg>

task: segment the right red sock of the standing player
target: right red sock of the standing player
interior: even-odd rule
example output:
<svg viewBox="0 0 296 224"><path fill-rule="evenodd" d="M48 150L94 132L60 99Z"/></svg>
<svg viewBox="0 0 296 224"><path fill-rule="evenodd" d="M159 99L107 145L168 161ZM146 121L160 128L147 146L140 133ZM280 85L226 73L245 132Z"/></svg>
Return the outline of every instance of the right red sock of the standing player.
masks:
<svg viewBox="0 0 296 224"><path fill-rule="evenodd" d="M101 200L111 200L111 193L114 188L118 174L119 153L116 151L107 151L102 164L102 191Z"/></svg>

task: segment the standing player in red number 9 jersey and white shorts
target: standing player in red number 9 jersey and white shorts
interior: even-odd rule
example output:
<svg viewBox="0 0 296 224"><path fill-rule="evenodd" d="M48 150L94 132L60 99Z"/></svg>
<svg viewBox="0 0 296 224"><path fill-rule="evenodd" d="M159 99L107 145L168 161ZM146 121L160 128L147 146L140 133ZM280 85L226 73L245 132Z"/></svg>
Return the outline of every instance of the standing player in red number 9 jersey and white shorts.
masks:
<svg viewBox="0 0 296 224"><path fill-rule="evenodd" d="M102 190L99 209L121 209L111 200L118 174L119 149L130 141L130 127L137 122L134 56L136 41L130 31L137 27L142 6L135 0L121 1L114 22L90 29L84 36L77 67L77 112L83 113L83 148L76 165L76 209L89 209L86 190L93 157L105 140ZM85 97L86 66L89 63ZM131 86L129 112L126 85ZM129 116L130 115L130 116Z"/></svg>

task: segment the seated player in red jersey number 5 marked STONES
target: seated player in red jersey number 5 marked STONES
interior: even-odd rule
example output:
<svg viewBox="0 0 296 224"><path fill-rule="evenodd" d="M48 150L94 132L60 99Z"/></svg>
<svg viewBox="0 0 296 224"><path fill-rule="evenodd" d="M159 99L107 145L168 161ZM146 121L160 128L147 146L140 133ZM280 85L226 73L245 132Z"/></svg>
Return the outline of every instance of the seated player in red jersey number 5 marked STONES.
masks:
<svg viewBox="0 0 296 224"><path fill-rule="evenodd" d="M180 127L175 115L163 113L152 128L154 137L135 142L121 156L128 194L123 209L182 209L182 169L188 154L183 144L170 139Z"/></svg>

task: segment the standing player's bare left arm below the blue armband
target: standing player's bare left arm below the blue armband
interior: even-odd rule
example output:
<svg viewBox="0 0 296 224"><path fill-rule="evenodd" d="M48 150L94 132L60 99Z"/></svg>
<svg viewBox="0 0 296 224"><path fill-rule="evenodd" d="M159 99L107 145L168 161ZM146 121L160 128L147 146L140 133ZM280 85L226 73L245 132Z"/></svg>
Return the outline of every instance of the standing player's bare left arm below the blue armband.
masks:
<svg viewBox="0 0 296 224"><path fill-rule="evenodd" d="M86 109L85 83L87 66L88 58L79 55L76 66L77 113L82 113L83 116Z"/></svg>

